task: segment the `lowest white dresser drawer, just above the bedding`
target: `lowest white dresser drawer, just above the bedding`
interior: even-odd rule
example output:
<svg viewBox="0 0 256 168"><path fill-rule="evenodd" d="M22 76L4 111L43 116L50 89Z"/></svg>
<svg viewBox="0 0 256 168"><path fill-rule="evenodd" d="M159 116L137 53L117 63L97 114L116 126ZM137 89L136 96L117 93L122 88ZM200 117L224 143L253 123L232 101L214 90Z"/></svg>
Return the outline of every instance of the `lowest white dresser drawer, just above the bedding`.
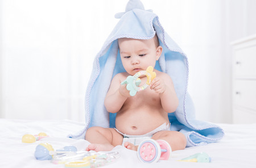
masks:
<svg viewBox="0 0 256 168"><path fill-rule="evenodd" d="M234 124L251 124L256 122L256 112L233 109Z"/></svg>

